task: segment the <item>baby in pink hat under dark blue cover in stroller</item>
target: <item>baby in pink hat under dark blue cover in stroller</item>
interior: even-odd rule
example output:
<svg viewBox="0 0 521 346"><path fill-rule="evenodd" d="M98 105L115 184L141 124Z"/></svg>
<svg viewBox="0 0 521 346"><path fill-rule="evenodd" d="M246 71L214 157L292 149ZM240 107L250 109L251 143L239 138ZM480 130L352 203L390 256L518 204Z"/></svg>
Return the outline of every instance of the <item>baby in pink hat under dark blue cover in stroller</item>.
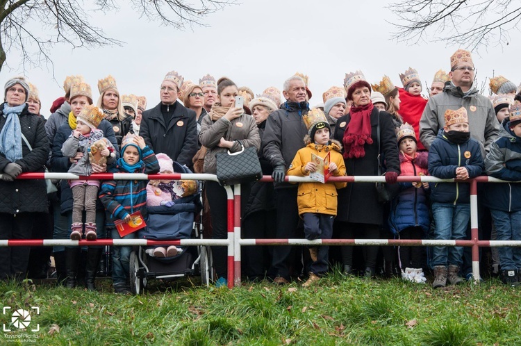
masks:
<svg viewBox="0 0 521 346"><path fill-rule="evenodd" d="M157 154L156 158L160 173L192 173L167 154ZM197 181L151 180L147 185L147 229L141 231L139 237L151 240L190 239L194 217L201 208ZM180 256L183 247L150 247L145 252L160 261L169 261Z"/></svg>

